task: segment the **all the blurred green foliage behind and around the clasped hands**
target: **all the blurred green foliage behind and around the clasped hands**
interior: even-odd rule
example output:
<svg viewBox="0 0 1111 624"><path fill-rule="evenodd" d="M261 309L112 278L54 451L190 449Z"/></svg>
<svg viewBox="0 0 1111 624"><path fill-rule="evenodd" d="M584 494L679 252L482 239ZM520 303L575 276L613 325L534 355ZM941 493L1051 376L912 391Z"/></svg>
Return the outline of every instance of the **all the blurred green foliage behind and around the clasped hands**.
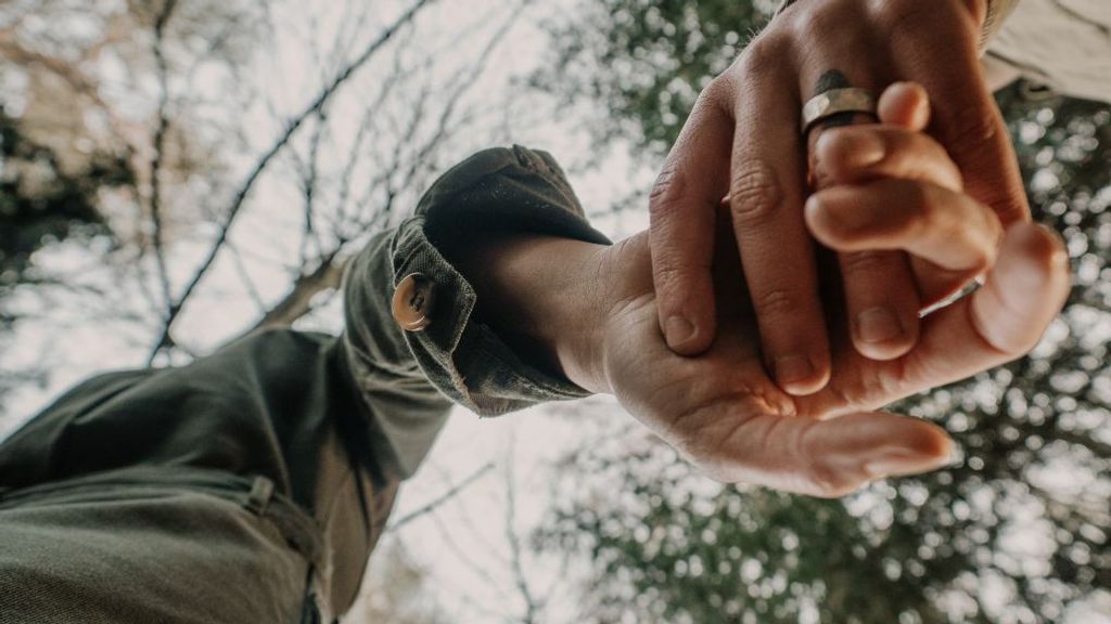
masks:
<svg viewBox="0 0 1111 624"><path fill-rule="evenodd" d="M595 98L599 141L659 158L764 19L735 1L585 3L536 83ZM538 540L592 557L589 621L1062 622L1111 587L1111 107L1023 83L998 101L1074 282L1030 356L892 406L945 426L960 460L820 501L711 484L658 443L580 452Z"/></svg>

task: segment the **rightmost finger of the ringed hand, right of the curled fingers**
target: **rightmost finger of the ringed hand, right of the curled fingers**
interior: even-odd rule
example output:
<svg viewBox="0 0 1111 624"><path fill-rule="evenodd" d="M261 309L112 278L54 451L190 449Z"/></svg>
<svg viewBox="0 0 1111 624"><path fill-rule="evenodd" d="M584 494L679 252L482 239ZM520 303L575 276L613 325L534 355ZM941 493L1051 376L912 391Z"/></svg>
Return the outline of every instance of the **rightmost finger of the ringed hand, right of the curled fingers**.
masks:
<svg viewBox="0 0 1111 624"><path fill-rule="evenodd" d="M969 194L990 207L1004 225L1029 221L1018 161L978 60L975 24L967 14L950 14L951 3L910 10L913 19L901 20L890 34L900 41L892 60L900 74L930 93L931 133L963 172ZM943 36L947 32L951 34Z"/></svg>

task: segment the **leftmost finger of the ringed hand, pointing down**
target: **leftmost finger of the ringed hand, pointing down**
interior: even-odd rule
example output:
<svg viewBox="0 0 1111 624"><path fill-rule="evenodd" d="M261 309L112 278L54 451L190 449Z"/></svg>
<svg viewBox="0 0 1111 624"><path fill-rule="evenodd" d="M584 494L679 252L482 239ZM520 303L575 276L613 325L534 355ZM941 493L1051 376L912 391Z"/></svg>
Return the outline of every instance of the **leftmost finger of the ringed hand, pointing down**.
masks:
<svg viewBox="0 0 1111 624"><path fill-rule="evenodd" d="M699 98L649 198L660 328L680 355L701 353L717 331L713 230L728 189L733 130L719 98L713 89Z"/></svg>

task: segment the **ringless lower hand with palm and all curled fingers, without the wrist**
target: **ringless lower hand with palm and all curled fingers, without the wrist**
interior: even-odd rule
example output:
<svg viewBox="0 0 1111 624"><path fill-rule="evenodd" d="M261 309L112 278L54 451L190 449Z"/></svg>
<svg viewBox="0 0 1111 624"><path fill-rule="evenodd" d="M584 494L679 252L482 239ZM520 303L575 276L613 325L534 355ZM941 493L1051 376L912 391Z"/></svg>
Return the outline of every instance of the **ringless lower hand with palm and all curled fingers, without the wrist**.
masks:
<svg viewBox="0 0 1111 624"><path fill-rule="evenodd" d="M605 314L601 371L582 383L601 384L725 482L835 496L944 464L951 442L943 430L874 410L1032 349L1063 305L1069 280L1055 235L1029 223L1004 233L995 213L963 192L945 150L921 132L927 118L921 88L898 84L881 99L881 123L824 131L814 148L823 190L805 205L809 232L833 252L909 253L920 292L948 292L983 274L973 294L922 319L913 344L894 356L862 354L838 313L843 275L829 271L837 278L822 290L832 312L825 320L831 374L815 393L784 392L769 373L751 290L737 269L735 236L720 214L710 348L698 356L668 348L651 274L655 250L642 234L609 250L608 271L622 285ZM827 261L831 266L838 262Z"/></svg>

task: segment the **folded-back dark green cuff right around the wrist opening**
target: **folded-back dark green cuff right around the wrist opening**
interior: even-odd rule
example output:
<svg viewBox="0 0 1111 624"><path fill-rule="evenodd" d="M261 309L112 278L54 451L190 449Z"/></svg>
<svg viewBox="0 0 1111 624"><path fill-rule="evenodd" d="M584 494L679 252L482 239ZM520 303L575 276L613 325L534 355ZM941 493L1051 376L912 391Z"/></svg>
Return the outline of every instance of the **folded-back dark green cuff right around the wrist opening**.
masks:
<svg viewBox="0 0 1111 624"><path fill-rule="evenodd" d="M434 289L429 325L404 332L421 371L440 392L480 415L589 394L538 370L529 353L516 353L489 326L471 319L474 290L438 245L477 231L609 244L587 222L567 178L547 153L491 149L450 170L424 194L417 215L398 229L391 250L394 286L420 273Z"/></svg>

